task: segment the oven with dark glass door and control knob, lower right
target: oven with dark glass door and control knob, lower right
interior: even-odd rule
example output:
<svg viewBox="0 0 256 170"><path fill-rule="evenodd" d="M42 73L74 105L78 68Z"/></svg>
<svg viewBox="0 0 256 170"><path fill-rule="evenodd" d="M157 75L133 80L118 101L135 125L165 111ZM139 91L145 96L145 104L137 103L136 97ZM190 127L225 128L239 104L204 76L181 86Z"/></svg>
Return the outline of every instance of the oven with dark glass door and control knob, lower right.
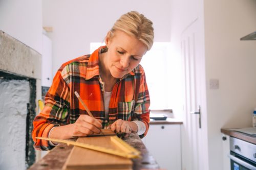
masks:
<svg viewBox="0 0 256 170"><path fill-rule="evenodd" d="M256 145L230 136L231 170L256 170Z"/></svg>

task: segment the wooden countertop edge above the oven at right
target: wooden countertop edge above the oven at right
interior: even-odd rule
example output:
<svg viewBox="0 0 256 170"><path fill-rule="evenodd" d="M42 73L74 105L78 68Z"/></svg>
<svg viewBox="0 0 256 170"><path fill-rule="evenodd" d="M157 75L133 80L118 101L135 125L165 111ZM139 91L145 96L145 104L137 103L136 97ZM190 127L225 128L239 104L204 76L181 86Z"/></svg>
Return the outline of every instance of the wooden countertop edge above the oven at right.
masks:
<svg viewBox="0 0 256 170"><path fill-rule="evenodd" d="M256 144L256 137L253 137L251 135L248 135L248 134L245 134L245 133L242 133L242 132L238 132L235 129L221 129L221 132L226 134L226 135L236 137L238 139Z"/></svg>

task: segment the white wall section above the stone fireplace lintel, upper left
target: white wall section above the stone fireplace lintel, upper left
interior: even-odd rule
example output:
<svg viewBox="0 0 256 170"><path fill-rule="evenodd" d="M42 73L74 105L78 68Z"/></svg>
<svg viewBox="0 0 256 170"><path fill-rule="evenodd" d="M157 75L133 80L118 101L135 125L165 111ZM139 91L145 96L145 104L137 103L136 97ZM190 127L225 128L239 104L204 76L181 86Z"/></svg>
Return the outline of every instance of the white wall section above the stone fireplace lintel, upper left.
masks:
<svg viewBox="0 0 256 170"><path fill-rule="evenodd" d="M41 0L0 0L0 30L41 54Z"/></svg>

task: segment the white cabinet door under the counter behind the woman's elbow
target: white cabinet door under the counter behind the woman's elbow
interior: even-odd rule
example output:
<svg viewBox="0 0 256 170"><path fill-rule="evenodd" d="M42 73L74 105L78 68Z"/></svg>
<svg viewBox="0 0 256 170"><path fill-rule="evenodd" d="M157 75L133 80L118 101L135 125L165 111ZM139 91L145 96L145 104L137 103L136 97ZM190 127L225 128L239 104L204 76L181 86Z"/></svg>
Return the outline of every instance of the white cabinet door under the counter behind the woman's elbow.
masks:
<svg viewBox="0 0 256 170"><path fill-rule="evenodd" d="M161 168L181 169L180 125L150 125L143 142Z"/></svg>

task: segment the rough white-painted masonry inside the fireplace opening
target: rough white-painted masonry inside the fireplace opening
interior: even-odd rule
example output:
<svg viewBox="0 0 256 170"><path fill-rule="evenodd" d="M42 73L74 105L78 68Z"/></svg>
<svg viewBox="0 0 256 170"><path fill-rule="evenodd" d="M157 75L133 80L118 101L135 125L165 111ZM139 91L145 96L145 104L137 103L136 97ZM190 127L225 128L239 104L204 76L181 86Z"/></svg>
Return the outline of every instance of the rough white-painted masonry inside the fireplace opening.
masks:
<svg viewBox="0 0 256 170"><path fill-rule="evenodd" d="M0 169L27 169L26 117L30 99L27 80L0 80ZM17 95L18 94L18 95ZM8 114L11 113L11 114Z"/></svg>

